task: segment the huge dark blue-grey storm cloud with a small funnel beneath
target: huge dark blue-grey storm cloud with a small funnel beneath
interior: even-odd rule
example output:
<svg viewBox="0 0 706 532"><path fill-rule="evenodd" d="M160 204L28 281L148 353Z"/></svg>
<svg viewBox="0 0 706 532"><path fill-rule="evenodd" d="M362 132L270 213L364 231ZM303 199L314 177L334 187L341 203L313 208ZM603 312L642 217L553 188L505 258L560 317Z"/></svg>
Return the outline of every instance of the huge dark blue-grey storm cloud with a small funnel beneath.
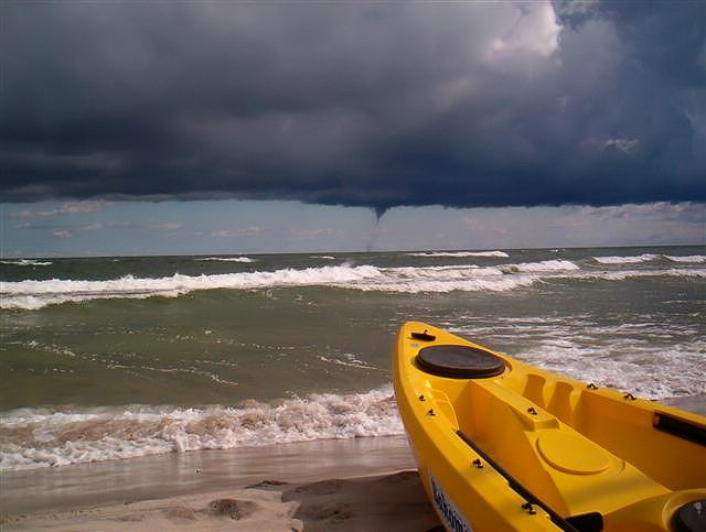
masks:
<svg viewBox="0 0 706 532"><path fill-rule="evenodd" d="M706 200L706 2L6 2L6 200Z"/></svg>

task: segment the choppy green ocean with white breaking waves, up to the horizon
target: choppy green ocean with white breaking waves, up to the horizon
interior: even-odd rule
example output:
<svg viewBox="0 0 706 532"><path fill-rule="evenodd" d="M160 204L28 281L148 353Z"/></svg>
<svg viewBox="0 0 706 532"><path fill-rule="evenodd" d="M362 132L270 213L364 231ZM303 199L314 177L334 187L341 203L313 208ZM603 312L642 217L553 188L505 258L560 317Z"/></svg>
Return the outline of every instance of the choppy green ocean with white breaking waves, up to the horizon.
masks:
<svg viewBox="0 0 706 532"><path fill-rule="evenodd" d="M2 259L0 469L404 433L406 321L706 393L704 247Z"/></svg>

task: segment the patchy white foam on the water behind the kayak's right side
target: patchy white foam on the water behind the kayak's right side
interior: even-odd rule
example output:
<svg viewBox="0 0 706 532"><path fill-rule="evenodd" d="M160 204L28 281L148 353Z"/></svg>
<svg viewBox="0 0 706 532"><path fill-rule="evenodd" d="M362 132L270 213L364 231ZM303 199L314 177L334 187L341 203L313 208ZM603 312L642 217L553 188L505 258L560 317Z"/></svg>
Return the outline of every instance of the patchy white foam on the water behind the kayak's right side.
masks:
<svg viewBox="0 0 706 532"><path fill-rule="evenodd" d="M660 316L603 325L591 315L486 318L464 316L450 329L492 346L522 346L513 355L533 366L649 399L706 393L699 327Z"/></svg>

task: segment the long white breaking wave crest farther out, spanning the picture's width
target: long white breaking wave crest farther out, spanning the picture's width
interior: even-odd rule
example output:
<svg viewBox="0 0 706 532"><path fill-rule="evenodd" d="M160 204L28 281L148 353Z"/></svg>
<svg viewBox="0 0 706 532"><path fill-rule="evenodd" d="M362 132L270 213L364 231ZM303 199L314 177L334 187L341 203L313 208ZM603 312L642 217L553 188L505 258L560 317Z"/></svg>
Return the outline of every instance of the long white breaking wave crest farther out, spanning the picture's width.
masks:
<svg viewBox="0 0 706 532"><path fill-rule="evenodd" d="M202 290L271 290L296 286L332 286L399 293L503 292L550 279L621 281L631 276L661 275L704 278L706 270L672 268L596 272L581 271L570 261L547 260L482 268L474 264L424 268L341 264L225 274L176 273L158 279L132 275L108 281L52 279L0 283L0 308L32 311L47 305L99 298L178 297Z"/></svg>

